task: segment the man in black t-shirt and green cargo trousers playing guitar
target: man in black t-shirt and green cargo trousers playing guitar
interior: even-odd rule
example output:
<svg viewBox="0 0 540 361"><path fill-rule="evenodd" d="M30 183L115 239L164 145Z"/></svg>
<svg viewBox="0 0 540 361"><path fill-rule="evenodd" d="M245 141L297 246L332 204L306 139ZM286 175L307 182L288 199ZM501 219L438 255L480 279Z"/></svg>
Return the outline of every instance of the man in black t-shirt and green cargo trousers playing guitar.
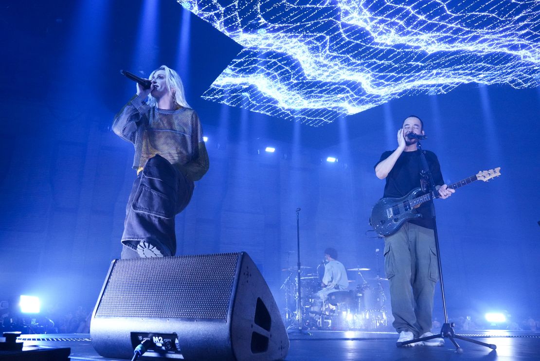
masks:
<svg viewBox="0 0 540 361"><path fill-rule="evenodd" d="M426 190L420 174L422 164L418 141L407 137L409 133L424 135L423 122L419 117L410 116L403 121L397 132L397 149L384 152L375 165L377 178L386 178L385 198L406 196L421 185ZM442 199L450 197L455 190L444 184L435 153L426 151L426 159L438 195ZM428 203L421 204L416 211L422 217L410 219L384 238L384 269L390 282L393 326L400 333L399 342L433 335L431 314L435 284L439 278L434 224ZM419 344L442 346L444 340L435 338Z"/></svg>

